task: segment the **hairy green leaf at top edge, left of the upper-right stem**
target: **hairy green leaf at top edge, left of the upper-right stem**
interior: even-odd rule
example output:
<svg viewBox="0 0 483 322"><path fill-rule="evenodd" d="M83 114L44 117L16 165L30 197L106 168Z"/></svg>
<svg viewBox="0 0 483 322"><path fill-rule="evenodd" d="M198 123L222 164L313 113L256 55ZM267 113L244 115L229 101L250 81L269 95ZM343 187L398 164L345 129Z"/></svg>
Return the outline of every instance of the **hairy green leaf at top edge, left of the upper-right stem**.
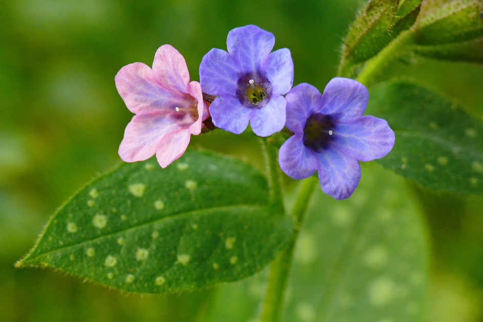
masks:
<svg viewBox="0 0 483 322"><path fill-rule="evenodd" d="M397 9L397 1L370 0L349 28L344 40L344 60L363 62L381 51L395 36L390 26Z"/></svg>

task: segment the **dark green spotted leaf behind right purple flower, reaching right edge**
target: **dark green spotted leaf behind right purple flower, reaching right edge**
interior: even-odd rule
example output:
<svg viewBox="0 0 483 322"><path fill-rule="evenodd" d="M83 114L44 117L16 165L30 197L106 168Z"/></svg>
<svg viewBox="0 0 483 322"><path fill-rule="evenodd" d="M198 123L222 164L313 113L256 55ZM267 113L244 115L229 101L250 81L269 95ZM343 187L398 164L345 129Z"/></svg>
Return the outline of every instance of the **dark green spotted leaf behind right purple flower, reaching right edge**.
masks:
<svg viewBox="0 0 483 322"><path fill-rule="evenodd" d="M385 83L370 91L367 113L387 120L393 150L378 162L420 185L461 194L483 192L483 124L424 87Z"/></svg>

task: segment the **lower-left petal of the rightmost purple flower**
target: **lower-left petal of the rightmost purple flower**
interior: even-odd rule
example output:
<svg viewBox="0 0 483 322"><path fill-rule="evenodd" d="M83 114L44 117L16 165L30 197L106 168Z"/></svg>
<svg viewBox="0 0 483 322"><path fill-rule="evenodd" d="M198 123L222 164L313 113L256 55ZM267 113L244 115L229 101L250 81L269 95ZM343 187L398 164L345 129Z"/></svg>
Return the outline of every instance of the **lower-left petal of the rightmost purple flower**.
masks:
<svg viewBox="0 0 483 322"><path fill-rule="evenodd" d="M317 157L304 146L302 140L302 135L294 135L279 151L280 168L289 177L297 180L308 178L317 170Z"/></svg>

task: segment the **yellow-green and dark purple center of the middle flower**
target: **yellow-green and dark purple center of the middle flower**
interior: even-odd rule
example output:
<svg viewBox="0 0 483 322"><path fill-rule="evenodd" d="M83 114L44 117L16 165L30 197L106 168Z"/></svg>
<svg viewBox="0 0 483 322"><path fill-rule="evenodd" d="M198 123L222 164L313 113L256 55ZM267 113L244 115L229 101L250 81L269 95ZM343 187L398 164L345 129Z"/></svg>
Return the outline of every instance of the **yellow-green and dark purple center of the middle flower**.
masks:
<svg viewBox="0 0 483 322"><path fill-rule="evenodd" d="M258 73L246 74L239 78L237 97L243 106L262 108L270 100L270 82Z"/></svg>

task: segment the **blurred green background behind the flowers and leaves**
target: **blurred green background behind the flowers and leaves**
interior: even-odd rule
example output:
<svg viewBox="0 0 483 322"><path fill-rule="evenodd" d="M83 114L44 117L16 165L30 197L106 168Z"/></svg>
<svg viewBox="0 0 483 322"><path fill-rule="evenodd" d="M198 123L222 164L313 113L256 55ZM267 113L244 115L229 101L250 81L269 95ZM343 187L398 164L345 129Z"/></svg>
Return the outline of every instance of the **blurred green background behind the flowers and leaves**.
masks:
<svg viewBox="0 0 483 322"><path fill-rule="evenodd" d="M256 24L275 35L275 49L291 50L294 84L308 82L322 90L336 75L341 39L358 5L357 0L3 1L0 320L191 321L199 311L209 310L204 300L216 297L215 289L126 295L51 270L14 269L13 265L33 245L57 206L84 182L120 161L117 149L132 117L114 86L114 75L122 66L136 61L151 65L156 49L169 43L185 57L191 79L199 80L198 66L206 52L225 49L229 30ZM413 60L414 65L405 65L405 60L385 73L416 78L439 89L483 120L481 66ZM254 144L231 134L200 136L192 142L260 166ZM364 170L367 180L388 175L377 166ZM403 204L414 205L411 211L427 224L432 254L427 320L483 320L483 198L434 194L402 179L390 182L390 188L404 196ZM287 183L294 185L292 180ZM400 206L398 200L394 209L385 211ZM254 317L258 303L237 299L259 296L262 278L224 290L235 299L230 309L240 320ZM303 309L293 314L301 321L312 317ZM223 315L218 319L228 320Z"/></svg>

